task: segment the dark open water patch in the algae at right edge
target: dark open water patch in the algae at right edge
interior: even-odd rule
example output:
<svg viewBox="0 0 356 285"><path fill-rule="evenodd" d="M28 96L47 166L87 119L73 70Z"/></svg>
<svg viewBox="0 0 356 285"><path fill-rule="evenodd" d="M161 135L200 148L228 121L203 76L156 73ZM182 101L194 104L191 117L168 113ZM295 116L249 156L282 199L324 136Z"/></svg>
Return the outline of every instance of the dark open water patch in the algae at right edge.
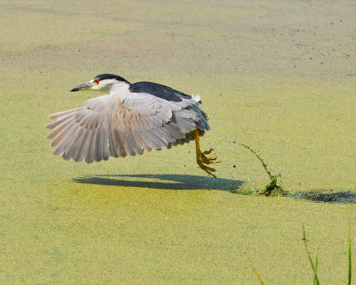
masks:
<svg viewBox="0 0 356 285"><path fill-rule="evenodd" d="M301 191L286 193L284 196L295 199L308 199L318 203L356 204L356 194L351 191Z"/></svg>

